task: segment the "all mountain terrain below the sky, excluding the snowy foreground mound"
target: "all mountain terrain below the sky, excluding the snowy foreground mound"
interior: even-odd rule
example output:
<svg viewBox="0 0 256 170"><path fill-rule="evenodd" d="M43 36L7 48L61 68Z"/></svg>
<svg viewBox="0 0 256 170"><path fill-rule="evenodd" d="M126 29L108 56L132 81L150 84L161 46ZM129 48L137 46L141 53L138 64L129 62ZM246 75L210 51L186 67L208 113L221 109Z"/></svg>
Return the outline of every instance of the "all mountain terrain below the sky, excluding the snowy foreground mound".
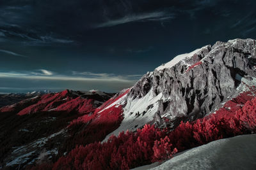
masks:
<svg viewBox="0 0 256 170"><path fill-rule="evenodd" d="M65 90L4 106L1 163L131 169L256 132L255 42L218 41L178 55L115 96Z"/></svg>

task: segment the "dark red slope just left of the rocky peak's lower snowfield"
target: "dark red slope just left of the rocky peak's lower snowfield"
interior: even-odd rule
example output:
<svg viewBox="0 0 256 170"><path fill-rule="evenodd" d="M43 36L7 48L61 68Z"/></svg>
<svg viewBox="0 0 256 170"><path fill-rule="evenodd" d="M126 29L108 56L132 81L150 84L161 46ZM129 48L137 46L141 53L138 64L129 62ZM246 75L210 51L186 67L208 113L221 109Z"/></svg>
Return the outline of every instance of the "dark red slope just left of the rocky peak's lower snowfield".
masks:
<svg viewBox="0 0 256 170"><path fill-rule="evenodd" d="M73 120L68 125L69 137L59 150L60 155L70 152L76 145L88 145L95 141L102 141L107 134L119 127L123 120L122 113L122 105L119 105Z"/></svg>

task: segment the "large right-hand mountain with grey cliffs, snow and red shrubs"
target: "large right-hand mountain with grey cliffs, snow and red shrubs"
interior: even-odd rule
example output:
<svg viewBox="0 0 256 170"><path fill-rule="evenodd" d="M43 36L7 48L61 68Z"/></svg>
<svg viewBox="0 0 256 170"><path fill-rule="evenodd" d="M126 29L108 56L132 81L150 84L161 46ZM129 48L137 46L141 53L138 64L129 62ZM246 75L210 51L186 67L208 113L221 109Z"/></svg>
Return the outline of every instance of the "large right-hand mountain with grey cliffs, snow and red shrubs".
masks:
<svg viewBox="0 0 256 170"><path fill-rule="evenodd" d="M73 120L70 128L83 127L82 136L95 143L83 142L50 167L131 169L256 132L255 42L218 41L148 72L92 115ZM97 128L100 133L92 132Z"/></svg>

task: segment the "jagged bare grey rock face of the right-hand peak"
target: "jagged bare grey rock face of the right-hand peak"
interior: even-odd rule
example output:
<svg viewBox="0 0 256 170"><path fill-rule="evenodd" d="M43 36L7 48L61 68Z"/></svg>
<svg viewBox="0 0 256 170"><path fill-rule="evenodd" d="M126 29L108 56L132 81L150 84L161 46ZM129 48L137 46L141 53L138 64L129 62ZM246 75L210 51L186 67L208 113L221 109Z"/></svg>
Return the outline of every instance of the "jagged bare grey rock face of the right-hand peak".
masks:
<svg viewBox="0 0 256 170"><path fill-rule="evenodd" d="M255 43L253 39L218 41L173 67L145 74L128 96L140 98L153 90L154 96L162 93L165 99L160 115L204 117L237 92L241 77L256 77Z"/></svg>

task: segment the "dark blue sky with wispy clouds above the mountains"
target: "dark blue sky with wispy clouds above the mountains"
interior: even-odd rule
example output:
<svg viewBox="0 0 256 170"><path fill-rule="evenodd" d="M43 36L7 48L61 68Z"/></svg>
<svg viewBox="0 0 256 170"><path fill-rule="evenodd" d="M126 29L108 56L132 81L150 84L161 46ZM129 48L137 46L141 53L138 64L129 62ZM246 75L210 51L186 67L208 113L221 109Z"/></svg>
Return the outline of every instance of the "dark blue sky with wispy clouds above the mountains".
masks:
<svg viewBox="0 0 256 170"><path fill-rule="evenodd" d="M181 53L256 39L255 1L0 0L0 92L118 92Z"/></svg>

